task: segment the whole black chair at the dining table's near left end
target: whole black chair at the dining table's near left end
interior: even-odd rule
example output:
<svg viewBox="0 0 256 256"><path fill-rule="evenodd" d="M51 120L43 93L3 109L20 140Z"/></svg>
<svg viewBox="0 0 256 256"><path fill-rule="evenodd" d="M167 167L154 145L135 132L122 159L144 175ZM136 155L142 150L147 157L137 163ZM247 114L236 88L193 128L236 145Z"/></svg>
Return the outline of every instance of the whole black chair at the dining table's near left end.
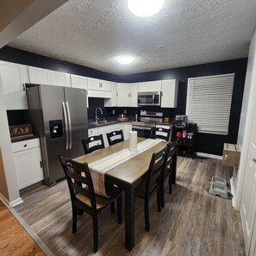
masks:
<svg viewBox="0 0 256 256"><path fill-rule="evenodd" d="M92 217L93 250L98 249L97 214L117 199L117 219L122 222L122 190L115 186L109 188L109 197L98 196L94 192L91 172L87 163L80 164L58 155L60 164L65 172L66 181L72 201L72 233L77 232L77 215L79 211L86 212Z"/></svg>

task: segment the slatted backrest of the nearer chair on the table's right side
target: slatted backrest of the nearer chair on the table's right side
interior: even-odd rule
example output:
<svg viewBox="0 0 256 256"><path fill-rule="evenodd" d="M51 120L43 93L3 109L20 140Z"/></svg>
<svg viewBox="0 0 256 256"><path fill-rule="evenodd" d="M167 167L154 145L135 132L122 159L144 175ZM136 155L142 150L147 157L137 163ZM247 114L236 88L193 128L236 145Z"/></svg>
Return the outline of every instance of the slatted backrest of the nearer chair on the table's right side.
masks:
<svg viewBox="0 0 256 256"><path fill-rule="evenodd" d="M157 153L153 153L149 168L147 170L147 179L146 179L146 193L149 193L151 184L153 181L157 181L159 184L161 182L161 174L164 171L165 167L165 155L167 153L167 147L164 147Z"/></svg>

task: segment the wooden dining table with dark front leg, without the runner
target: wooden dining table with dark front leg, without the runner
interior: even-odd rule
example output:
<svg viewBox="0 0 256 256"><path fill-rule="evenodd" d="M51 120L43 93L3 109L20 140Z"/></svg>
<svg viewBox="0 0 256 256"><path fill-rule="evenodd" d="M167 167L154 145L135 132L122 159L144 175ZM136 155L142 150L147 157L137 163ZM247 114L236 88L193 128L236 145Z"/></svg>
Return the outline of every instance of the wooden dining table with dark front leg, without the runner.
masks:
<svg viewBox="0 0 256 256"><path fill-rule="evenodd" d="M146 140L138 138L140 141ZM150 164L152 154L158 152L166 146L167 141L160 141L153 147L148 148L146 151L139 153L132 159L128 159L121 165L110 169L105 173L105 178L112 184L116 184L124 191L125 198L125 247L131 251L134 247L134 192L135 188L142 178L145 176ZM124 140L113 146L99 149L93 153L84 154L76 159L79 163L91 164L99 159L103 159L113 153L117 153L129 147L129 140Z"/></svg>

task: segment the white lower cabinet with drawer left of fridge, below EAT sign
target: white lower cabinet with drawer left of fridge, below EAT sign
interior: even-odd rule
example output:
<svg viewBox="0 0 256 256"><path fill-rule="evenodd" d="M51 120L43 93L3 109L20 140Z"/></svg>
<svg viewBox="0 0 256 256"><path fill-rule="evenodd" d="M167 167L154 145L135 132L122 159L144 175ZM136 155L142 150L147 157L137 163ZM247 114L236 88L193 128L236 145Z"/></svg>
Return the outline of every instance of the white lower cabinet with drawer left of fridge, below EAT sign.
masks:
<svg viewBox="0 0 256 256"><path fill-rule="evenodd" d="M43 180L39 139L13 142L12 151L19 190Z"/></svg>

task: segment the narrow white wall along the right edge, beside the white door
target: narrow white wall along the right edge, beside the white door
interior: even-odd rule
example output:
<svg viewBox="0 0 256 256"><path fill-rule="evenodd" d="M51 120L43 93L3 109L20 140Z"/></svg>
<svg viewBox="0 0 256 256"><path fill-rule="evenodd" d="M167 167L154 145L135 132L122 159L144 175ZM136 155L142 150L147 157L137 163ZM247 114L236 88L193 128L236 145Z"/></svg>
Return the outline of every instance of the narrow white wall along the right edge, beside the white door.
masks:
<svg viewBox="0 0 256 256"><path fill-rule="evenodd" d="M256 95L256 30L250 44L247 76L245 82L243 103L240 116L240 127L238 132L237 144L240 147L240 165L238 169L237 185L235 187L234 208L240 209L241 194L243 189L243 182L247 167L247 153L249 148L249 139L252 130L254 100Z"/></svg>

